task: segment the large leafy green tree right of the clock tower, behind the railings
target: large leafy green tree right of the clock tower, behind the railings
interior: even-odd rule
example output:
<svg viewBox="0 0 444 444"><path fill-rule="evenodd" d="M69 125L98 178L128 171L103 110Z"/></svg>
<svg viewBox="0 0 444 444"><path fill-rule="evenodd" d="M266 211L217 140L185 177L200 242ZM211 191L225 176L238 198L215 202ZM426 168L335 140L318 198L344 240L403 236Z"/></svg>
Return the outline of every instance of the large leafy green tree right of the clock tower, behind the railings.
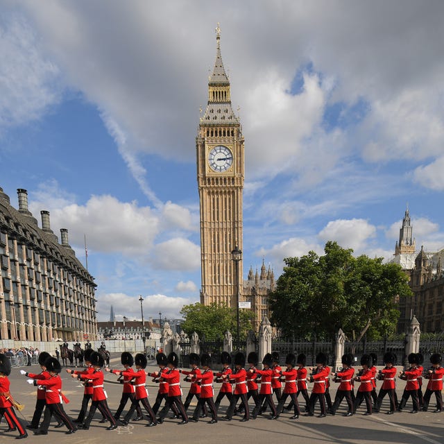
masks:
<svg viewBox="0 0 444 444"><path fill-rule="evenodd" d="M397 300L411 296L407 275L382 258L354 257L336 242L325 255L313 251L284 259L284 273L270 298L272 323L284 336L333 339L339 328L349 339L379 338L394 332Z"/></svg>

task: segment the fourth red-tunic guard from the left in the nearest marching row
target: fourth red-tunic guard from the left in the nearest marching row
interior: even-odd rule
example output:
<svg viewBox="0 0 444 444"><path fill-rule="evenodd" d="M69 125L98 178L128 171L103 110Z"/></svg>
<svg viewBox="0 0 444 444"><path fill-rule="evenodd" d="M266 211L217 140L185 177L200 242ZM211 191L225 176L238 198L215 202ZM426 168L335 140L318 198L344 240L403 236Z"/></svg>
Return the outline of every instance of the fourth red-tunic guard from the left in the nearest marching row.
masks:
<svg viewBox="0 0 444 444"><path fill-rule="evenodd" d="M151 418L151 421L148 422L146 427L153 427L154 425L157 425L157 420L155 418L153 409L151 409L151 405L148 402L148 390L146 388L146 373L144 370L146 368L146 364L148 364L148 362L146 361L146 356L143 355L142 353L137 353L135 357L135 364L136 364L136 371L134 371L133 368L131 367L128 367L126 370L120 372L116 372L116 370L113 370L113 373L118 373L120 376L129 379L131 381L131 384L133 384L133 387L135 388L135 395L133 401L131 402L131 407L128 410L128 413L126 413L125 418L123 418L121 422L124 425L128 425L131 416L133 415L137 407L139 407L139 402L140 402L144 406L144 409L146 410L146 413L148 413L148 416Z"/></svg>

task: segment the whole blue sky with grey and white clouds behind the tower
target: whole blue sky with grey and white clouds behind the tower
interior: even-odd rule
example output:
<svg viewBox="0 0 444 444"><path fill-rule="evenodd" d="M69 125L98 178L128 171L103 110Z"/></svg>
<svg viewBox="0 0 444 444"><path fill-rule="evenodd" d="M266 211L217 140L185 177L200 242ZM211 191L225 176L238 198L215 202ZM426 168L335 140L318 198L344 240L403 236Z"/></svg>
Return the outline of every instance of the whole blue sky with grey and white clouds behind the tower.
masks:
<svg viewBox="0 0 444 444"><path fill-rule="evenodd" d="M444 3L0 0L0 187L51 212L99 320L196 302L196 146L216 56L246 139L244 273L327 240L444 248Z"/></svg>

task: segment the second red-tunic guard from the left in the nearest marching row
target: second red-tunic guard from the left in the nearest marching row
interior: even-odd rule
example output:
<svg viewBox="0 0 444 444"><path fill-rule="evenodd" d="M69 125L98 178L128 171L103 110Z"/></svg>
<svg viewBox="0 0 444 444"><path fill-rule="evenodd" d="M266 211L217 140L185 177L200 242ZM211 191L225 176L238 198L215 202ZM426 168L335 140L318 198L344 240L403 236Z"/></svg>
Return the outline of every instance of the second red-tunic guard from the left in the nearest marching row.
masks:
<svg viewBox="0 0 444 444"><path fill-rule="evenodd" d="M46 409L44 411L43 421L40 429L34 432L35 435L47 435L51 416L56 416L60 422L63 422L68 429L67 434L76 432L76 426L71 418L63 409L62 400L68 402L67 398L62 395L62 378L59 373L62 371L60 362L53 357L49 357L44 361L46 371L51 376L49 379L28 379L28 384L42 385L45 388Z"/></svg>

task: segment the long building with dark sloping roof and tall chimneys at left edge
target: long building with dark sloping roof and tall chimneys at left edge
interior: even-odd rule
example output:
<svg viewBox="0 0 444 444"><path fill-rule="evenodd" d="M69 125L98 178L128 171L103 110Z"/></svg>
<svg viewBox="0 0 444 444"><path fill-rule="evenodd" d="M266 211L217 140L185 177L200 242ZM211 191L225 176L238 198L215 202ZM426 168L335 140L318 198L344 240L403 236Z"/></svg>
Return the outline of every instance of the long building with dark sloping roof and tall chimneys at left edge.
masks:
<svg viewBox="0 0 444 444"><path fill-rule="evenodd" d="M60 230L59 243L49 212L40 212L40 228L26 189L17 194L19 210L0 188L0 339L96 339L96 284L69 246L68 230Z"/></svg>

